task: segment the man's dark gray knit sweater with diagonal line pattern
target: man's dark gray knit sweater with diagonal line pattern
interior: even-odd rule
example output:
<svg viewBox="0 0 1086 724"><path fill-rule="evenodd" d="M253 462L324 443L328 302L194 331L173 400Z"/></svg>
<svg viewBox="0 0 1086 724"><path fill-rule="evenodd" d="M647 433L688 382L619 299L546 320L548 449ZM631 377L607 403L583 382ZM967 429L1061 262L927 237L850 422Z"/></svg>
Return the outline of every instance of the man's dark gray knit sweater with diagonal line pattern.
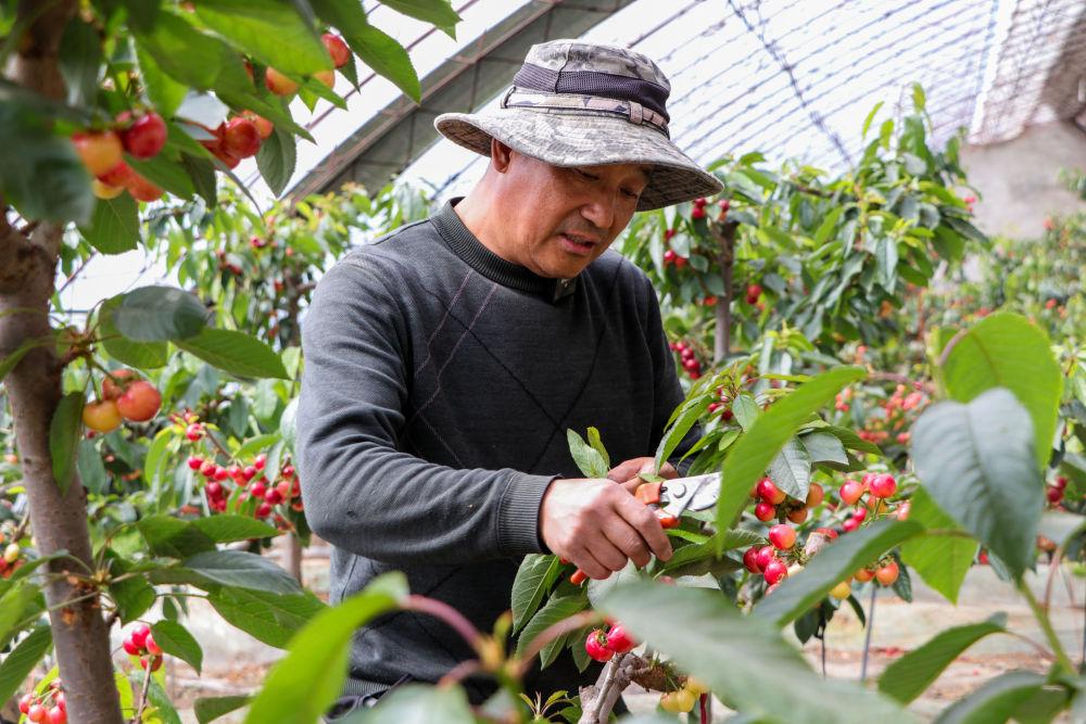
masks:
<svg viewBox="0 0 1086 724"><path fill-rule="evenodd" d="M508 610L521 558L546 552L547 485L581 477L566 430L598 428L617 465L653 455L682 401L640 269L606 252L576 279L539 277L452 204L329 269L302 347L296 467L306 519L333 546L332 601L399 570L482 631ZM346 691L434 682L470 656L440 621L389 615L355 635ZM527 684L584 679L565 656ZM488 691L468 684L476 701Z"/></svg>

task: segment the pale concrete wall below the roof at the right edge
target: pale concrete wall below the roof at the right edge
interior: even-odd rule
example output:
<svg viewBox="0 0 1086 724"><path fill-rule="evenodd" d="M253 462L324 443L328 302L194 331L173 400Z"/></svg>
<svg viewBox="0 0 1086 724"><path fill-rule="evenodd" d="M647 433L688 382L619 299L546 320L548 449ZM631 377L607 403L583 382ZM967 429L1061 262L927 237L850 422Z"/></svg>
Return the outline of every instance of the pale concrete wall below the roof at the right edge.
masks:
<svg viewBox="0 0 1086 724"><path fill-rule="evenodd" d="M988 234L1036 237L1049 215L1086 212L1059 180L1061 168L1086 173L1086 132L1070 122L1031 126L1018 138L967 147L962 166L980 190L977 226Z"/></svg>

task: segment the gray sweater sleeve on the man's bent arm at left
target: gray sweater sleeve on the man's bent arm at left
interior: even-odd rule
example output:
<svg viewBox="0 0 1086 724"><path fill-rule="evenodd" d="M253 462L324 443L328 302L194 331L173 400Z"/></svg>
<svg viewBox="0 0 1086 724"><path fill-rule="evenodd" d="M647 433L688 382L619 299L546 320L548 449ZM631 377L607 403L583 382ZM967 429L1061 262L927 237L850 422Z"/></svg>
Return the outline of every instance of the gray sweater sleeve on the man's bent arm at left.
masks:
<svg viewBox="0 0 1086 724"><path fill-rule="evenodd" d="M457 470L397 449L411 335L381 277L352 262L333 266L302 325L296 467L310 526L392 564L541 552L539 509L553 478Z"/></svg>

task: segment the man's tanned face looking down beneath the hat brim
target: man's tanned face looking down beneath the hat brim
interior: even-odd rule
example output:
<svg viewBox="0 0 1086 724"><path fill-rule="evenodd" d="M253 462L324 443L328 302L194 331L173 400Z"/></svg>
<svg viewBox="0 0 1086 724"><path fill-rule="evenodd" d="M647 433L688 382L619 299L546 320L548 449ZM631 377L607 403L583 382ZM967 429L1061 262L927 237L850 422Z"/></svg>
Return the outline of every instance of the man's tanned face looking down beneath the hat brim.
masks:
<svg viewBox="0 0 1086 724"><path fill-rule="evenodd" d="M576 277L630 223L648 183L636 164L552 166L509 151L502 174L503 244L541 277Z"/></svg>

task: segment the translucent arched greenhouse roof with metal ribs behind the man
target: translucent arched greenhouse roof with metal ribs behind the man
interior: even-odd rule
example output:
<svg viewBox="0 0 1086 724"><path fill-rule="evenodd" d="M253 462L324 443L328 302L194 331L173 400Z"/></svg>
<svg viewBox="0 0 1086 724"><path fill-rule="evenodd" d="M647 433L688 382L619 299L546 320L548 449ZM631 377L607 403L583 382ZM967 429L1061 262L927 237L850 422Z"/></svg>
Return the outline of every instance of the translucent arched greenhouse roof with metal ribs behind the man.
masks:
<svg viewBox="0 0 1086 724"><path fill-rule="evenodd" d="M927 96L936 141L959 128L972 143L1016 136L1026 125L1072 118L1084 106L1081 0L464 0L457 40L401 15L376 25L408 48L422 103L388 81L364 79L349 113L310 125L318 152L300 157L291 192L369 187L393 175L463 191L484 160L438 140L433 117L497 102L535 42L580 37L635 49L671 80L672 138L703 164L762 151L842 168L862 144L877 101L893 117ZM382 25L381 21L387 23ZM393 27L394 26L394 27ZM318 109L318 111L320 111ZM300 154L300 156L306 154Z"/></svg>

